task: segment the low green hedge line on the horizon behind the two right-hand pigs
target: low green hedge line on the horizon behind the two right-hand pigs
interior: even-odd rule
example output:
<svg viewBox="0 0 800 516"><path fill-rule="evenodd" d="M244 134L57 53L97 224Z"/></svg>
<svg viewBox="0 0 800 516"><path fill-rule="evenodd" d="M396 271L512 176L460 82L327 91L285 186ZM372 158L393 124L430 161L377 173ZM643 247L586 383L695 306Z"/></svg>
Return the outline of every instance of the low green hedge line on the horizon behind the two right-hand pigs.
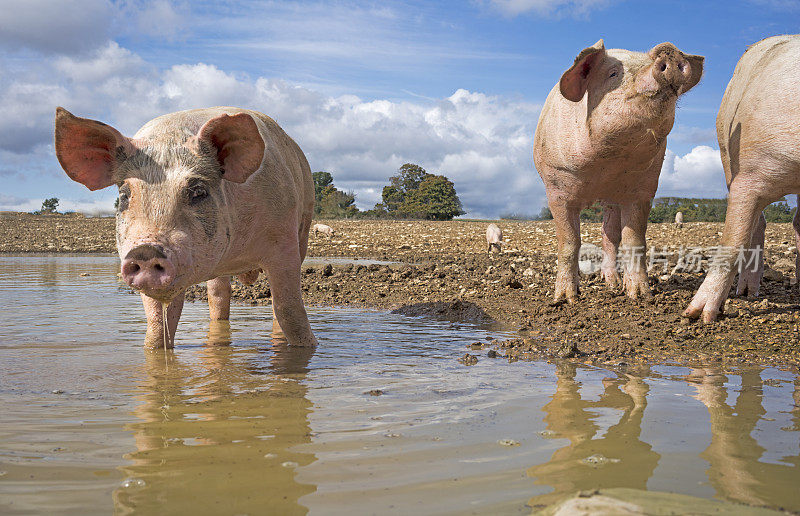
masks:
<svg viewBox="0 0 800 516"><path fill-rule="evenodd" d="M649 222L674 222L675 214L683 213L684 222L725 222L725 213L728 209L727 199L698 199L689 197L657 197L653 199L650 208ZM786 199L774 202L764 209L764 218L767 222L791 222L797 208L792 208ZM594 203L581 210L581 220L587 222L603 222L603 207ZM510 220L550 220L553 215L545 206L538 216L524 217L510 214L501 218Z"/></svg>

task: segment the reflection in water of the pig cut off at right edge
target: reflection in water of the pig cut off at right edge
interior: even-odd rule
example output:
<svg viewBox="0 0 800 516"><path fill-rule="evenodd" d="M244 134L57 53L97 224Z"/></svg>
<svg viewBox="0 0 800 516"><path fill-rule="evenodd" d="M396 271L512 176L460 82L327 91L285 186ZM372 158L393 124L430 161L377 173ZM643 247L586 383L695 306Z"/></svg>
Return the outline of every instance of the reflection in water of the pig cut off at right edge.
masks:
<svg viewBox="0 0 800 516"><path fill-rule="evenodd" d="M711 421L711 443L700 456L709 463L708 479L717 497L797 509L800 455L784 456L782 463L767 462L767 450L756 439L757 425L767 413L762 372L760 368L741 371L738 396L729 404L727 375L715 368L692 370L687 379L694 384L695 397L708 408ZM799 386L795 379L794 428L785 430L800 429Z"/></svg>

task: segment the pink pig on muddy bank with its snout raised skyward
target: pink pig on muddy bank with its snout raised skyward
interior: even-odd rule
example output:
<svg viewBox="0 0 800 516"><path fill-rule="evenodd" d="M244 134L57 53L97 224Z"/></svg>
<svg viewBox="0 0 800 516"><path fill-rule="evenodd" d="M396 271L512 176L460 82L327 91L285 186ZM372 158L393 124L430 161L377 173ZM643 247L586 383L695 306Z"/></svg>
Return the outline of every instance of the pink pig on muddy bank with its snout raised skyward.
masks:
<svg viewBox="0 0 800 516"><path fill-rule="evenodd" d="M584 49L545 101L533 143L558 238L555 302L578 295L580 210L600 201L601 273L631 298L650 297L645 231L678 97L703 73L703 58L662 43L648 53ZM621 245L620 245L621 244Z"/></svg>

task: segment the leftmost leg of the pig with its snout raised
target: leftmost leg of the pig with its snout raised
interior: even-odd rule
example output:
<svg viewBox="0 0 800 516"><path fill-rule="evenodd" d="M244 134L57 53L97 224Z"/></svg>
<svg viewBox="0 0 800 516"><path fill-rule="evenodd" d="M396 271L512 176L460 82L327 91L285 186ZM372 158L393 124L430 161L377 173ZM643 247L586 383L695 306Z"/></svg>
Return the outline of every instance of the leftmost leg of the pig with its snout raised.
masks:
<svg viewBox="0 0 800 516"><path fill-rule="evenodd" d="M550 212L556 225L558 239L558 272L553 302L574 303L578 298L578 254L581 249L580 208L552 203Z"/></svg>

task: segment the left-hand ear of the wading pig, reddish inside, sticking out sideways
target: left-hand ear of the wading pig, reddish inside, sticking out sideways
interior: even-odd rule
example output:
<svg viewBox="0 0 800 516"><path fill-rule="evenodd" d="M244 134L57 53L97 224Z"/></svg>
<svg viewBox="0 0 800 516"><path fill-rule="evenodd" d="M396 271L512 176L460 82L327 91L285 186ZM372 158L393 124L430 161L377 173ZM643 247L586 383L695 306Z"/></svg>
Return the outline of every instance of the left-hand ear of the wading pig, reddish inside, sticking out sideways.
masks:
<svg viewBox="0 0 800 516"><path fill-rule="evenodd" d="M70 178L89 190L113 185L120 159L134 151L131 141L113 127L56 108L58 162Z"/></svg>

